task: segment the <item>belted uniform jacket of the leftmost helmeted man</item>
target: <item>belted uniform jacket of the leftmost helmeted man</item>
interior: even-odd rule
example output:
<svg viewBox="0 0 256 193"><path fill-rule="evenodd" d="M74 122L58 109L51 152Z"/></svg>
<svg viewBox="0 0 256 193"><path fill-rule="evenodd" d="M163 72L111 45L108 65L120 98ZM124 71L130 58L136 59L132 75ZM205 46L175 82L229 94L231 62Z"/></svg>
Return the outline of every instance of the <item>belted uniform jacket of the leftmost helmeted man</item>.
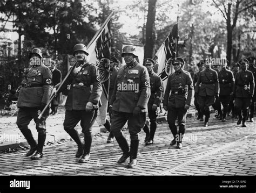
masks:
<svg viewBox="0 0 256 193"><path fill-rule="evenodd" d="M35 108L39 107L41 103L47 104L52 91L51 70L44 65L25 69L22 85L28 85L28 87L22 87L19 91L17 102L19 108Z"/></svg>

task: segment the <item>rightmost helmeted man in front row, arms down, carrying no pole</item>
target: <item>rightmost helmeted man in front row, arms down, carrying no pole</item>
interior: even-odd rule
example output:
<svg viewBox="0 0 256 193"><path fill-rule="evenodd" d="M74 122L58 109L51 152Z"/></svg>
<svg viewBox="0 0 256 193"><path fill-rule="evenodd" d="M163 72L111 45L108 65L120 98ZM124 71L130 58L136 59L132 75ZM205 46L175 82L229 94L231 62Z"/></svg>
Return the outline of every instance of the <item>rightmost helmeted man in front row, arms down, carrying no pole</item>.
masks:
<svg viewBox="0 0 256 193"><path fill-rule="evenodd" d="M118 160L118 163L124 163L130 157L128 167L133 168L137 165L138 133L146 123L147 102L150 97L150 78L147 69L136 61L138 56L133 46L125 46L122 57L126 65L118 71L110 100L109 113L112 112L110 130L123 151L123 156ZM129 148L121 131L127 120L131 148Z"/></svg>

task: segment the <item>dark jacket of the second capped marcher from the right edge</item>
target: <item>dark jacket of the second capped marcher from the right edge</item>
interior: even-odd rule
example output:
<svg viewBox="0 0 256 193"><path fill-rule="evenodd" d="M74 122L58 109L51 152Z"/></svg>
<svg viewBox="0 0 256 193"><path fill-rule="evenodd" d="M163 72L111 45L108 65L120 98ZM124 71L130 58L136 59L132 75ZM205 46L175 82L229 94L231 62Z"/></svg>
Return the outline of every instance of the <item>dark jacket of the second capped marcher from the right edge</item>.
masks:
<svg viewBox="0 0 256 193"><path fill-rule="evenodd" d="M234 76L228 69L221 69L218 72L219 84L220 84L220 96L228 96L233 91Z"/></svg>

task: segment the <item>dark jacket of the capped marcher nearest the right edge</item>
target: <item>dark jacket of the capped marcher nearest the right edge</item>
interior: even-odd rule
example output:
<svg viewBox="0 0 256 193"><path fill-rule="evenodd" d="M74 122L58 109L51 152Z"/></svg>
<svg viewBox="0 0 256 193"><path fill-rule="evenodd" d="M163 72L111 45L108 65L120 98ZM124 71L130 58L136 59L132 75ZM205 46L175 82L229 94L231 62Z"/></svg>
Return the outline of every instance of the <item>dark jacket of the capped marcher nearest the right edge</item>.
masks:
<svg viewBox="0 0 256 193"><path fill-rule="evenodd" d="M250 98L254 92L253 74L248 70L241 70L235 76L234 82L235 97Z"/></svg>

